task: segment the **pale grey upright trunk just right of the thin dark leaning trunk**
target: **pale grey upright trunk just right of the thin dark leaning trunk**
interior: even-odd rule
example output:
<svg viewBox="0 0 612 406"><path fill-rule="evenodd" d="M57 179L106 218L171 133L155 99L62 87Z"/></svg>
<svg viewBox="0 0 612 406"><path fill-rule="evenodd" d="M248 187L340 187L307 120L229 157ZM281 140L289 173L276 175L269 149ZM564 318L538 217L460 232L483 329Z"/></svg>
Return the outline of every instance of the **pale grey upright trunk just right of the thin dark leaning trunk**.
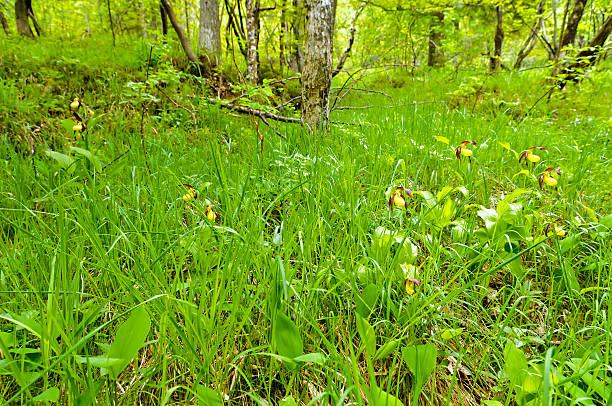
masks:
<svg viewBox="0 0 612 406"><path fill-rule="evenodd" d="M211 67L221 64L221 23L219 0L200 0L198 49Z"/></svg>

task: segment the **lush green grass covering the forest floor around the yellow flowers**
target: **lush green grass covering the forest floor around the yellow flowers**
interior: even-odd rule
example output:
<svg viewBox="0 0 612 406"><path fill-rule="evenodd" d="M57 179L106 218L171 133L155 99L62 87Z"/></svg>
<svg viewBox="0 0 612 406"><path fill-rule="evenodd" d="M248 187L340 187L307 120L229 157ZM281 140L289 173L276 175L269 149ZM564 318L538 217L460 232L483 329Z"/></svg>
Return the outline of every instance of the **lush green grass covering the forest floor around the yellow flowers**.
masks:
<svg viewBox="0 0 612 406"><path fill-rule="evenodd" d="M47 46L21 52L63 52ZM598 109L571 118L583 107L566 95L523 120L487 102L542 78L496 79L475 99L468 80L434 72L382 89L400 107L333 113L348 124L328 135L272 124L285 140L259 123L260 154L253 121L198 99L197 80L160 63L150 73L173 101L129 90L147 52L126 45L102 63L91 47L69 74L41 62L27 85L29 60L0 64L0 400L408 405L432 362L420 404L610 399L610 127ZM78 138L63 122L74 96L95 112ZM444 102L411 104L427 100ZM464 140L477 145L460 162ZM547 149L525 174L500 142ZM559 187L540 190L547 167ZM390 211L398 186L413 198ZM554 224L566 235L546 236ZM410 361L425 344L434 359Z"/></svg>

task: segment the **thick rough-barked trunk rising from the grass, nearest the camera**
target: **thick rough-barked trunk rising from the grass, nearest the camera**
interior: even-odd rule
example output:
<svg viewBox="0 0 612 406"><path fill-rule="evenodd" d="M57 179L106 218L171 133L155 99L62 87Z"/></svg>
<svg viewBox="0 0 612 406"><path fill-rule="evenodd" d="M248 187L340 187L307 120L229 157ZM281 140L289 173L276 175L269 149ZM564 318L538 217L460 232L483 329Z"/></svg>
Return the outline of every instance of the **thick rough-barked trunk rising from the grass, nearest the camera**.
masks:
<svg viewBox="0 0 612 406"><path fill-rule="evenodd" d="M330 0L306 3L306 52L302 71L302 124L310 130L325 128L329 121L332 78L333 5Z"/></svg>

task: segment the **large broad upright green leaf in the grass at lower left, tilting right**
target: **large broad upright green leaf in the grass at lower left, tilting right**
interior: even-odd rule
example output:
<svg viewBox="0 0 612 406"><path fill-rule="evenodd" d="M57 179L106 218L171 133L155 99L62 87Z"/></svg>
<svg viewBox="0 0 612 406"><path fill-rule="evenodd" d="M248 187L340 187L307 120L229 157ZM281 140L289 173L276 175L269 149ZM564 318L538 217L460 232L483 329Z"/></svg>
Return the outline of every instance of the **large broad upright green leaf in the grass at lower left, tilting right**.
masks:
<svg viewBox="0 0 612 406"><path fill-rule="evenodd" d="M102 368L102 375L108 373L111 378L117 379L121 371L138 354L138 350L144 345L149 329L151 318L143 306L138 306L132 311L130 317L117 329L115 340L111 344L108 354L109 359L122 359L123 361Z"/></svg>

